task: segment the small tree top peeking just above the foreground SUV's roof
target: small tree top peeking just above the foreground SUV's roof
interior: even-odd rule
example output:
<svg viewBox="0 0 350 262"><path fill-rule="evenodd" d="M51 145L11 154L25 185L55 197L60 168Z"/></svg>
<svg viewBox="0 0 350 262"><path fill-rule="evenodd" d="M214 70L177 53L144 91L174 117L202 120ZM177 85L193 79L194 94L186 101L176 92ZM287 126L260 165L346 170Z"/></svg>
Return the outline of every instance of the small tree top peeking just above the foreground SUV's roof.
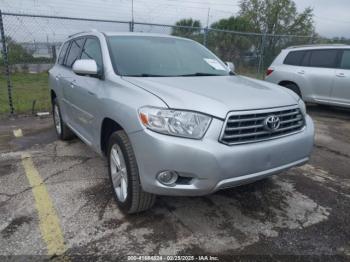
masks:
<svg viewBox="0 0 350 262"><path fill-rule="evenodd" d="M174 36L187 37L197 39L201 34L201 22L199 20L181 19L175 23L171 34Z"/></svg>

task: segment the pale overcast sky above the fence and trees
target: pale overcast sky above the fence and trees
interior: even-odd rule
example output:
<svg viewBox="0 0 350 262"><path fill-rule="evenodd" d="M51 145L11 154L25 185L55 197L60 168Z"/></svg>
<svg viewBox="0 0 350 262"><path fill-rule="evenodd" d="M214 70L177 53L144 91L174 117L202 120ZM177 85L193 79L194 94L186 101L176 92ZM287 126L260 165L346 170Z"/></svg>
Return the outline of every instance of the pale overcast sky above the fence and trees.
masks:
<svg viewBox="0 0 350 262"><path fill-rule="evenodd" d="M203 25L236 15L240 0L134 0L138 22L173 24L181 18ZM295 0L297 8L314 9L316 31L325 37L350 38L350 0ZM111 20L131 19L131 0L0 0L3 12L20 12ZM210 9L210 10L209 10ZM209 11L209 12L208 12ZM209 19L208 19L209 13Z"/></svg>

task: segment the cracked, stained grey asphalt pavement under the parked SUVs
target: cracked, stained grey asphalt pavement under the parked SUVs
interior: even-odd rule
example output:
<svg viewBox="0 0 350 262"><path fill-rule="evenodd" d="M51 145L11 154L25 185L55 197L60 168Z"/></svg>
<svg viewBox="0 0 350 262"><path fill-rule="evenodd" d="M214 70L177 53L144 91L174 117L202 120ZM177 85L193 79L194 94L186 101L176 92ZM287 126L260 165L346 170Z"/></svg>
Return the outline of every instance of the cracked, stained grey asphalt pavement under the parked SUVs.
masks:
<svg viewBox="0 0 350 262"><path fill-rule="evenodd" d="M106 160L79 139L57 141L51 118L0 120L0 256L349 261L350 111L308 110L308 164L205 197L158 197L131 216L114 202Z"/></svg>

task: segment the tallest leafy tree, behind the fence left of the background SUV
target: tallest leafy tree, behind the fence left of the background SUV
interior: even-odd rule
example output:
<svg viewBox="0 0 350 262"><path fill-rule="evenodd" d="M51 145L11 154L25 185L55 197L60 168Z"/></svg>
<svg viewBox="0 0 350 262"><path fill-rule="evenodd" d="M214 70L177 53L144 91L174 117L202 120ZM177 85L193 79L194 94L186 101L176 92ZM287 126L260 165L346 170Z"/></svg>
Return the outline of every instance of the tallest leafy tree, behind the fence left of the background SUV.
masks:
<svg viewBox="0 0 350 262"><path fill-rule="evenodd" d="M293 0L242 0L240 8L240 15L250 21L254 32L310 36L310 38L278 36L262 38L266 63L270 63L281 48L310 42L315 33L313 10L306 8L298 13Z"/></svg>

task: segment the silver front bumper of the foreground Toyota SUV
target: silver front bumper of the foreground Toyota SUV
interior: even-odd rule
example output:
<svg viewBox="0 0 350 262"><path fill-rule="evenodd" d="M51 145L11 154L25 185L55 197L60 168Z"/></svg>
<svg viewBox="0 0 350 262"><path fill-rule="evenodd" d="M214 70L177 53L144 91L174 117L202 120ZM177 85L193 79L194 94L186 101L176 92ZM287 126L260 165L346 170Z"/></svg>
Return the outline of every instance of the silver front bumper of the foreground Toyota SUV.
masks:
<svg viewBox="0 0 350 262"><path fill-rule="evenodd" d="M129 135L143 190L158 195L199 196L253 182L308 161L314 143L309 116L301 132L264 142L227 146L218 142L223 122L213 119L202 140L143 130ZM188 184L164 186L160 171L192 178Z"/></svg>

